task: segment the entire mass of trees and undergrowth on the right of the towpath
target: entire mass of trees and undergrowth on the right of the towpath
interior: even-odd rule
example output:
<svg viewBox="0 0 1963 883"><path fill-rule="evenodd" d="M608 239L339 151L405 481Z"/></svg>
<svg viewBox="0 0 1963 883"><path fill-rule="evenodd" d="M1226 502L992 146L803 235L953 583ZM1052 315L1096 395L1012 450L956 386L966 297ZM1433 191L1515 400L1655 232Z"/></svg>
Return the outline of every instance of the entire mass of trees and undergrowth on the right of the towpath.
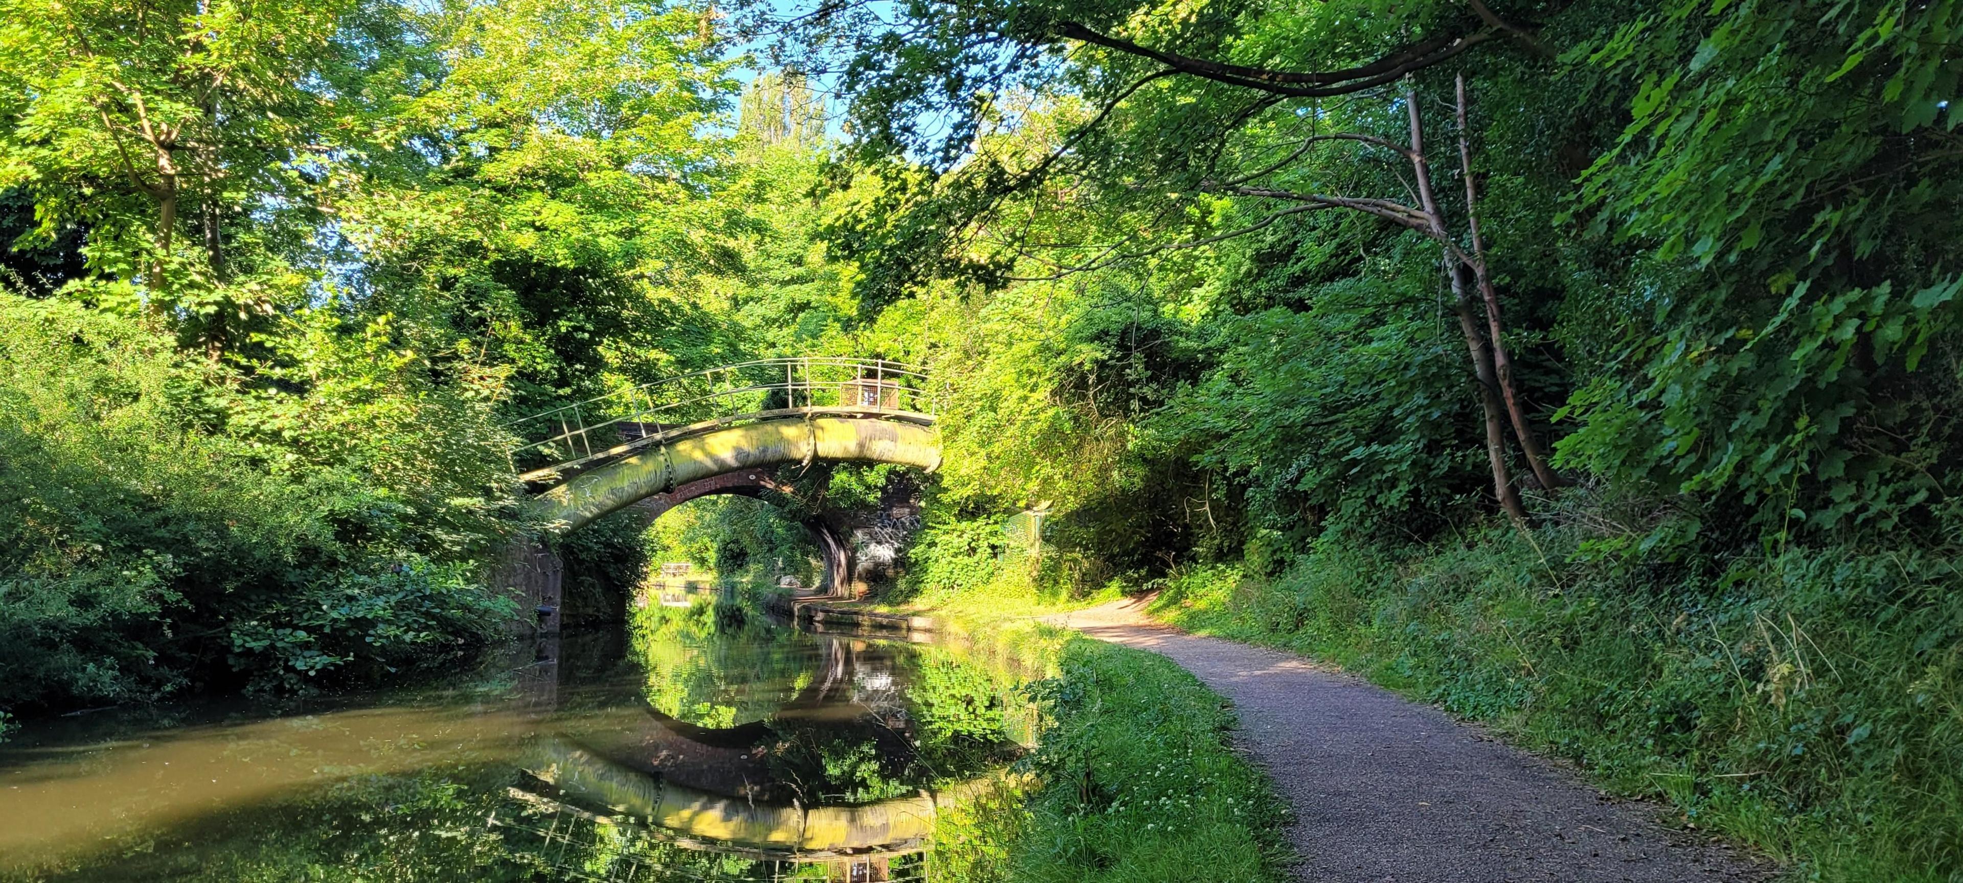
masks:
<svg viewBox="0 0 1963 883"><path fill-rule="evenodd" d="M1955 16L817 26L879 194L826 234L954 396L915 579L985 597L1040 510L1048 597L1166 589L1800 877L1963 873Z"/></svg>

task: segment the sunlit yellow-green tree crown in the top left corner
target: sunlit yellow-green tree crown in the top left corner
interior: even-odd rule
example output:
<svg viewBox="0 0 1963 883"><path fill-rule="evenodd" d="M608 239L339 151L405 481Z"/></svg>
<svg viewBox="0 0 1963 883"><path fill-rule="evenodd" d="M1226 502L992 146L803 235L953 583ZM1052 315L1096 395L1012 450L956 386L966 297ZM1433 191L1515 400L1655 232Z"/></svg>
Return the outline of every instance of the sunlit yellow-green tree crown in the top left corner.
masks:
<svg viewBox="0 0 1963 883"><path fill-rule="evenodd" d="M269 310L269 220L304 214L308 167L347 145L330 120L349 94L353 0L10 0L0 8L0 186L26 186L39 235L90 228L98 292L169 316L210 355ZM245 220L257 216L257 220ZM302 218L304 226L306 220ZM247 245L249 243L249 245ZM135 286L135 283L141 283Z"/></svg>

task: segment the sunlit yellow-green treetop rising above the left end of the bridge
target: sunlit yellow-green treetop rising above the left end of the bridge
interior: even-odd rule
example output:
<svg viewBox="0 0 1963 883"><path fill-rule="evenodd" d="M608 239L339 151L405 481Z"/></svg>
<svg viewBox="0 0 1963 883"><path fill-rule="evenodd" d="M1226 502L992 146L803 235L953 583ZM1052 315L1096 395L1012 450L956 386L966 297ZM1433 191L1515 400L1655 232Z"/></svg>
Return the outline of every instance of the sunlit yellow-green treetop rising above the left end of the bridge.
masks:
<svg viewBox="0 0 1963 883"><path fill-rule="evenodd" d="M328 210L377 310L514 365L514 410L720 363L695 279L738 263L744 206L715 135L736 80L705 8L453 4L420 24L442 78L377 126L414 147L351 169Z"/></svg>

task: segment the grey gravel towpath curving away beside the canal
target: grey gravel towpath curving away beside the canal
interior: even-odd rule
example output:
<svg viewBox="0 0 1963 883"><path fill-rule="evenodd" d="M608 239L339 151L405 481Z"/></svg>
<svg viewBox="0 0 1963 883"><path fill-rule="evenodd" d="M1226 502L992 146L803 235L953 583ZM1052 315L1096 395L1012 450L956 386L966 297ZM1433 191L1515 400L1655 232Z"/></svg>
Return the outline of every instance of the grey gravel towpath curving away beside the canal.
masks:
<svg viewBox="0 0 1963 883"><path fill-rule="evenodd" d="M1553 761L1445 712L1274 649L1199 638L1121 600L1046 622L1172 657L1241 714L1294 806L1311 883L1759 881L1765 865L1651 822Z"/></svg>

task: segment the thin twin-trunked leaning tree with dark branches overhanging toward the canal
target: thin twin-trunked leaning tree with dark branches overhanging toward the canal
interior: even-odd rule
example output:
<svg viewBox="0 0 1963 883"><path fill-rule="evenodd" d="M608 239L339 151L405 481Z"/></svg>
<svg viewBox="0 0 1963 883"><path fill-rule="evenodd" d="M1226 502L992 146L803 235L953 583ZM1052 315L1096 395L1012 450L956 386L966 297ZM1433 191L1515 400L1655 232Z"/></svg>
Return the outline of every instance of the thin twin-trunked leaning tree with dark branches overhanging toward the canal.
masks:
<svg viewBox="0 0 1963 883"><path fill-rule="evenodd" d="M1496 16L1482 2L1406 14L1368 4L1317 4L1286 22L1276 22L1268 10L1245 16L1209 10L1192 22L1166 22L1154 16L1119 18L1113 10L1080 4L991 8L1009 16L1009 26L991 24L982 18L983 10L966 4L923 10L907 20L913 29L883 31L850 20L842 26L856 35L842 80L854 96L854 120L866 131L858 141L860 153L877 161L893 161L895 153L942 163L962 157L925 181L889 175L897 196L877 208L883 214L897 208L919 220L840 226L848 251L874 265L868 275L875 285L901 288L934 271L1001 285L1023 273L1013 269L1017 263L1031 261L1050 267L1052 275L1082 273L1141 261L1166 247L1221 243L1303 212L1362 212L1425 235L1445 251L1445 273L1455 292L1451 312L1464 332L1470 389L1486 412L1488 463L1502 508L1515 520L1525 516L1506 465L1508 426L1535 481L1549 489L1561 485L1517 389L1502 300L1478 228L1462 75L1457 159L1464 202L1457 206L1433 186L1435 157L1423 147L1423 86L1411 80L1502 37L1539 53L1527 27ZM822 22L832 16L819 14L807 27L822 31ZM1115 29L1121 22L1123 33ZM1296 27L1319 39L1292 33ZM921 37L923 31L928 35ZM1433 35L1411 41L1411 31ZM887 39L893 33L907 39ZM1068 57L1052 53L1050 63L1031 63L1060 41L1082 45ZM1180 45L1182 51L1154 49L1166 45ZM1252 65L1235 57L1301 59L1301 65L1284 69L1272 67L1274 61ZM1027 88L1031 96L1009 102L997 92L1003 86ZM1064 116L1040 151L1027 151L1027 143L1019 145L1025 147L1021 151L995 151L989 145L1001 139L987 137L954 141L958 133L985 135L991 128L1048 126L1031 112L1046 104L1084 110ZM1406 143L1372 131L1388 120L1370 104L1407 116ZM946 133L913 128L907 114L927 112L952 120ZM1276 143L1286 145L1278 149ZM1390 151L1406 163L1409 179L1360 181L1343 173L1343 159L1327 153L1333 147ZM1294 188L1278 184L1292 171L1307 181ZM1345 182L1362 192L1398 186L1407 190L1407 198L1356 196L1356 190L1341 186ZM1056 192L1068 192L1062 198L1078 206L1078 218L1119 212L1123 222L1091 222L1089 228L1101 228L1105 235L1084 235L1086 224L1074 224L1070 232L1056 226L1038 232L1011 220L1025 212L1029 200ZM1282 202L1284 208L1233 228L1205 208L1213 194ZM1449 222L1453 208L1464 214L1462 228ZM932 265L919 261L919 251L948 257ZM891 277L879 269L885 257L899 259Z"/></svg>

